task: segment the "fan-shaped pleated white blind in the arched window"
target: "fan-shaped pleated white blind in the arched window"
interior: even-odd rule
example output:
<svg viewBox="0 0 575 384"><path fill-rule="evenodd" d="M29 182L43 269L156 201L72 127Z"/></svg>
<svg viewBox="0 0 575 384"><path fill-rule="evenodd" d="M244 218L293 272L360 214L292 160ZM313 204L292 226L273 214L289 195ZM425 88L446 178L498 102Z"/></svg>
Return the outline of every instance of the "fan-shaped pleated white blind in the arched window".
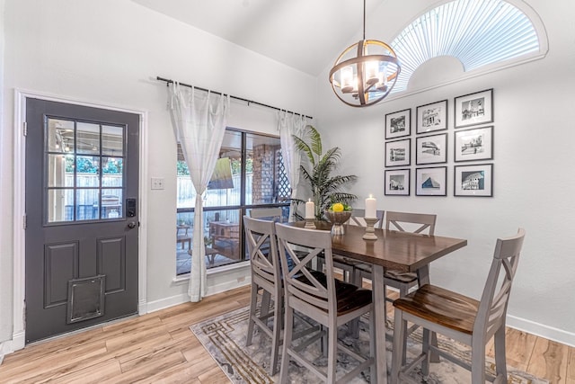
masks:
<svg viewBox="0 0 575 384"><path fill-rule="evenodd" d="M525 13L502 0L456 0L422 14L391 43L402 63L394 93L429 58L453 56L464 71L523 57L540 50Z"/></svg>

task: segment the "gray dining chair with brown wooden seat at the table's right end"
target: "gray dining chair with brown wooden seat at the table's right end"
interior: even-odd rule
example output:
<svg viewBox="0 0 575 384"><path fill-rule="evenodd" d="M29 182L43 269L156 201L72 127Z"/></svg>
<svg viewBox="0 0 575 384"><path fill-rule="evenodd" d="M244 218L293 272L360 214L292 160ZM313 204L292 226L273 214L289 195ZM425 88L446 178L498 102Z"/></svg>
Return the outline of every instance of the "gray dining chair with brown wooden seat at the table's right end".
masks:
<svg viewBox="0 0 575 384"><path fill-rule="evenodd" d="M427 375L431 352L438 353L439 356L471 371L472 384L484 384L486 379L497 383L508 382L505 320L511 285L517 272L524 238L525 230L519 228L517 235L497 239L491 268L479 301L430 284L425 284L404 298L394 301L392 384L398 383L419 363L421 363L422 373ZM403 337L408 321L422 326L424 332L420 355L404 364L402 362ZM430 335L436 333L469 345L471 364L430 344ZM495 346L496 377L491 377L491 374L485 372L485 344L491 340L491 337L493 337Z"/></svg>

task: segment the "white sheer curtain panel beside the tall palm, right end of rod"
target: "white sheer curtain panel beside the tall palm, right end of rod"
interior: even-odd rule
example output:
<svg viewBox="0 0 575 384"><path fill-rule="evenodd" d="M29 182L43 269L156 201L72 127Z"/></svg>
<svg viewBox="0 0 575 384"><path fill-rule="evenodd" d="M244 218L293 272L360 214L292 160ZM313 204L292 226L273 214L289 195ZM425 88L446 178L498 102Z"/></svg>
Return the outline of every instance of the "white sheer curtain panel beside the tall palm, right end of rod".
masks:
<svg viewBox="0 0 575 384"><path fill-rule="evenodd" d="M305 116L299 116L291 112L278 112L279 140L281 142L281 154L288 174L289 185L291 186L291 198L297 195L297 184L299 183L299 165L301 156L296 149L293 135L301 137L307 123ZM289 206L289 221L294 220L294 205Z"/></svg>

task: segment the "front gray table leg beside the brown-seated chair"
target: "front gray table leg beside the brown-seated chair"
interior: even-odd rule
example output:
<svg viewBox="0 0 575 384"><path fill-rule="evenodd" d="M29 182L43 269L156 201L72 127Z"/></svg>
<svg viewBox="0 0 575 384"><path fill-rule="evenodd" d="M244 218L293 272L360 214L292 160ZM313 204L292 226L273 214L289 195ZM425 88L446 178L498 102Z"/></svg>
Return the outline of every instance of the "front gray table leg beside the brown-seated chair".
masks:
<svg viewBox="0 0 575 384"><path fill-rule="evenodd" d="M385 292L384 267L372 266L372 292L374 300L374 320L376 324L376 380L375 383L387 383L387 352L385 351Z"/></svg>

